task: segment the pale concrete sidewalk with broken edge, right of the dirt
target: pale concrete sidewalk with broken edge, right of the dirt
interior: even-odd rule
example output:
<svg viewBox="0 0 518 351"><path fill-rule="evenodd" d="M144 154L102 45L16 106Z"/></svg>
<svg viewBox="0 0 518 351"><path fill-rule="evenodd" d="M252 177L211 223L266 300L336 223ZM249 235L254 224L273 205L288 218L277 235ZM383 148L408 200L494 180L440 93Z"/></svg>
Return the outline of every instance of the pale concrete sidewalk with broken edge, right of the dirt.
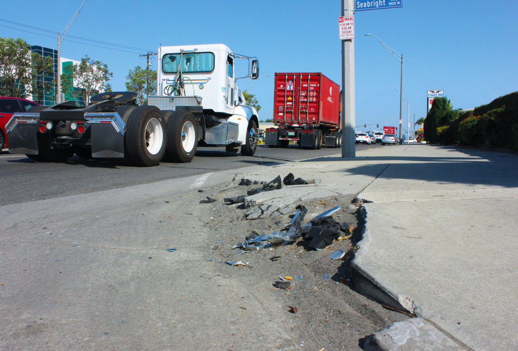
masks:
<svg viewBox="0 0 518 351"><path fill-rule="evenodd" d="M253 171L251 179L291 171L316 180L296 192L254 195L258 203L358 193L366 215L352 262L359 290L426 319L426 326L435 326L455 348L518 349L518 156L387 146L360 151L355 159L322 158ZM420 342L429 349L452 349L435 331L419 331L413 324L404 335L380 333L378 349L411 350Z"/></svg>

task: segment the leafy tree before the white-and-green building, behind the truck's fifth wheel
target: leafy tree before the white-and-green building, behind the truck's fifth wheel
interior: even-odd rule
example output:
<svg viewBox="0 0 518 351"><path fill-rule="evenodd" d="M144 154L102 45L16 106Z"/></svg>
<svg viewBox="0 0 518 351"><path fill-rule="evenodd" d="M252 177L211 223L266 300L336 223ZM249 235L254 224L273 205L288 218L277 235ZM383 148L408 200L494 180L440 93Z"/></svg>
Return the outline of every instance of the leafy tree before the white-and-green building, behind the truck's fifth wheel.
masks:
<svg viewBox="0 0 518 351"><path fill-rule="evenodd" d="M106 90L110 77L113 77L113 73L108 70L108 65L99 60L93 61L88 55L78 65L74 65L74 78L77 86L83 89L82 94L87 105L90 104L92 95Z"/></svg>

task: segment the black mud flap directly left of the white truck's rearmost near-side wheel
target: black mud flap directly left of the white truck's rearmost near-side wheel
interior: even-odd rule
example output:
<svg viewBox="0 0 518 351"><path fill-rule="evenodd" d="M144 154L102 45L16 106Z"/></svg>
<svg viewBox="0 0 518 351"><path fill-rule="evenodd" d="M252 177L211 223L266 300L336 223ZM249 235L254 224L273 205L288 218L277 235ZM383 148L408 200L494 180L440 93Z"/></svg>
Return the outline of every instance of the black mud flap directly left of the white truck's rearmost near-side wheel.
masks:
<svg viewBox="0 0 518 351"><path fill-rule="evenodd" d="M90 128L92 131L92 157L124 157L124 135L117 132L111 123L93 123Z"/></svg>

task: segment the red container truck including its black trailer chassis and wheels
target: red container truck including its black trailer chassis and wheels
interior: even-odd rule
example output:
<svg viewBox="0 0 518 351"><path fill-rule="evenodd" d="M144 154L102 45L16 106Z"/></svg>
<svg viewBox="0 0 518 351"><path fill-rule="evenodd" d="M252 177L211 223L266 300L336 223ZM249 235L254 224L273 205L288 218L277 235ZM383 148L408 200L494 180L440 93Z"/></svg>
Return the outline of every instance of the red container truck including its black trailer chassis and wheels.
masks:
<svg viewBox="0 0 518 351"><path fill-rule="evenodd" d="M274 124L265 144L287 148L341 147L340 86L322 73L276 73Z"/></svg>

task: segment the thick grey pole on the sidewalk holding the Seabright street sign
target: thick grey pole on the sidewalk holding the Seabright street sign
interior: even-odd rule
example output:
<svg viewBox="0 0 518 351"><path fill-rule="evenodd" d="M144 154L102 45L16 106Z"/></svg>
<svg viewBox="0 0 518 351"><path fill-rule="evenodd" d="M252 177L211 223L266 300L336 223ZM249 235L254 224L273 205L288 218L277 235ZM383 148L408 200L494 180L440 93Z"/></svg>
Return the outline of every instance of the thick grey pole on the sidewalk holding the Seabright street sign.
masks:
<svg viewBox="0 0 518 351"><path fill-rule="evenodd" d="M342 16L354 15L354 0L342 0ZM342 40L342 157L356 157L354 39Z"/></svg>

